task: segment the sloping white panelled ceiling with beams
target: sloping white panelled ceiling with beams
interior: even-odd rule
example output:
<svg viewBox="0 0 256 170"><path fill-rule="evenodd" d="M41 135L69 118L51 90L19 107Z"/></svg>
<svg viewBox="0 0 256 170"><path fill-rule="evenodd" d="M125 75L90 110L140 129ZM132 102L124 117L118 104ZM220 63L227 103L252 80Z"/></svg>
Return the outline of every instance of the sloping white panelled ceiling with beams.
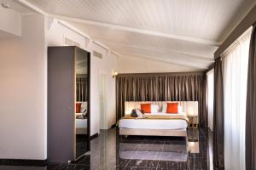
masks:
<svg viewBox="0 0 256 170"><path fill-rule="evenodd" d="M18 0L67 20L125 56L198 71L255 0Z"/></svg>

